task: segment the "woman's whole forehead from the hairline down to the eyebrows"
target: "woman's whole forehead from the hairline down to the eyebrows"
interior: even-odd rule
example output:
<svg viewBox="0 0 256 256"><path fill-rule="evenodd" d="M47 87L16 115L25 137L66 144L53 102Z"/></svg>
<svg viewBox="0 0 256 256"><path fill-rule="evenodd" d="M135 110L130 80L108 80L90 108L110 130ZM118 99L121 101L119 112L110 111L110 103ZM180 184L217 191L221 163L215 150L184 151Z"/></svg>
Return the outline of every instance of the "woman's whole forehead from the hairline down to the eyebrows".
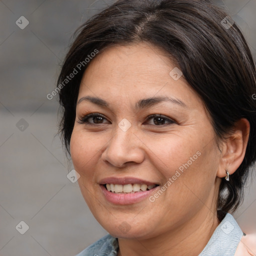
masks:
<svg viewBox="0 0 256 256"><path fill-rule="evenodd" d="M105 48L91 60L79 88L79 96L93 95L122 102L153 96L182 98L187 105L198 104L199 97L162 50L146 43ZM176 69L174 69L176 70ZM78 100L79 100L78 96Z"/></svg>

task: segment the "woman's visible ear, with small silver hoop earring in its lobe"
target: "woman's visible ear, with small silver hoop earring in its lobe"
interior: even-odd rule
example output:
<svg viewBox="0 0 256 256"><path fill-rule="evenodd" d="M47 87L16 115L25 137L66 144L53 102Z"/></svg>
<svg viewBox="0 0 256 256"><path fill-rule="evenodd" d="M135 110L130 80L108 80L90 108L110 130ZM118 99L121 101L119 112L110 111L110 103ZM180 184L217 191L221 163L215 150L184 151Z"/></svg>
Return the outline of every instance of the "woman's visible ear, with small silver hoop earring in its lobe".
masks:
<svg viewBox="0 0 256 256"><path fill-rule="evenodd" d="M225 169L232 174L239 167L245 155L249 131L250 124L247 119L241 118L235 123L232 134L221 144L221 159L217 177L226 176Z"/></svg>

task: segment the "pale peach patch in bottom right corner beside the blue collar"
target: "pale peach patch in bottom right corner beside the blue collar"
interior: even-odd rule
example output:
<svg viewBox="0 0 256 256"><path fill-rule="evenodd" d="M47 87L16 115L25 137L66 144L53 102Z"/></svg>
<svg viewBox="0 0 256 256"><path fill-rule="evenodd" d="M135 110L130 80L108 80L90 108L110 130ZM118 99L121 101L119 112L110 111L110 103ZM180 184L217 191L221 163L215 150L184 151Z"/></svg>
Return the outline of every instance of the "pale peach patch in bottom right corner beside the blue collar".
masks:
<svg viewBox="0 0 256 256"><path fill-rule="evenodd" d="M256 255L256 234L246 234L242 236L236 248L234 256L254 256Z"/></svg>

